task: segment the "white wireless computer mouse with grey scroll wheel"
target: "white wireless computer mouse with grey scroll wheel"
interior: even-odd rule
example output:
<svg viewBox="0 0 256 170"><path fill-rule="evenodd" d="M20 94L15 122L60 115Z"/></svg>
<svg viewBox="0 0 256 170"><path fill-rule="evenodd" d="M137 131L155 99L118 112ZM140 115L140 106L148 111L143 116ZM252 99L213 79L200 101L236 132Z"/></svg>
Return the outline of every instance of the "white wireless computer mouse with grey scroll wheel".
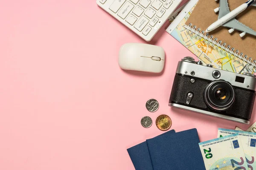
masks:
<svg viewBox="0 0 256 170"><path fill-rule="evenodd" d="M156 45L127 43L119 50L118 63L125 70L160 73L164 61L164 50Z"/></svg>

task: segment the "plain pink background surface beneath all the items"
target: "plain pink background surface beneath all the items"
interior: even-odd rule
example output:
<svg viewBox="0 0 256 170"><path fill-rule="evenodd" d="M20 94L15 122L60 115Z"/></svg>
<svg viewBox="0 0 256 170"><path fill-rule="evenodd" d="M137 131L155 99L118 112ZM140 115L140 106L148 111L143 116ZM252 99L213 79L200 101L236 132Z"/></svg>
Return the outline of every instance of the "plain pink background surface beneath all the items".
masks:
<svg viewBox="0 0 256 170"><path fill-rule="evenodd" d="M143 116L167 114L201 141L249 127L168 106L177 62L193 55L164 28L149 43L164 48L165 69L149 74L119 68L122 44L146 42L96 0L2 0L0 22L1 170L133 170L126 149L163 133Z"/></svg>

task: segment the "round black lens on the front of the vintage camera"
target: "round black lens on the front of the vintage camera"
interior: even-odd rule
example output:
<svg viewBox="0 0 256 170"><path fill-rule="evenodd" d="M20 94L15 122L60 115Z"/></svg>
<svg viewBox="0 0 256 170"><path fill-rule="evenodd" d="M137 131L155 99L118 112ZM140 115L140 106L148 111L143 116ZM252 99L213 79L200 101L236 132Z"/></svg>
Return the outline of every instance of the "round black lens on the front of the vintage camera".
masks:
<svg viewBox="0 0 256 170"><path fill-rule="evenodd" d="M230 83L224 80L216 80L205 88L204 99L213 110L224 111L234 103L235 91Z"/></svg>

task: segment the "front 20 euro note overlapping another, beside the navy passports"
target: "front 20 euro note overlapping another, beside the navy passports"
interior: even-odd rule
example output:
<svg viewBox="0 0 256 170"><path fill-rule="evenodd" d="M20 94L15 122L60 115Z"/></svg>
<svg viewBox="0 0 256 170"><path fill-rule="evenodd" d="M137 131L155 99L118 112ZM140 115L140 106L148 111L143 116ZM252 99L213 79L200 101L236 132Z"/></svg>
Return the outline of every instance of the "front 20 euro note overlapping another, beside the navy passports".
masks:
<svg viewBox="0 0 256 170"><path fill-rule="evenodd" d="M238 134L200 142L199 147L207 170L248 170Z"/></svg>

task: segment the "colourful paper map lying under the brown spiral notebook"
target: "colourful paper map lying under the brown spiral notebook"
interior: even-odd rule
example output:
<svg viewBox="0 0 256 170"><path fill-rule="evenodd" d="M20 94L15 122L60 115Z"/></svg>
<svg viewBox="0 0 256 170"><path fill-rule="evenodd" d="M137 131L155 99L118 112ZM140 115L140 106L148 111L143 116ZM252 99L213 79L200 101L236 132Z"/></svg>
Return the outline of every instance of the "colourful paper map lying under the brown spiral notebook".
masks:
<svg viewBox="0 0 256 170"><path fill-rule="evenodd" d="M209 5L212 3L209 1L207 2ZM215 1L213 2L216 3ZM205 34L201 34L202 31L197 32L197 28L193 29L194 26L192 26L192 24L188 24L189 26L185 25L187 20L189 20L190 16L194 14L194 9L198 9L197 4L198 0L190 0L189 3L185 6L185 8L176 17L176 19L166 29L166 31L170 35L172 35L172 37L174 37L177 41L179 41L182 45L184 45L187 49L189 49L189 51L195 54L196 57L199 60L201 60L204 65L211 64L213 65L214 68L240 74L244 72L255 73L256 62L253 61L253 57L250 59L250 57L244 55L245 52L241 54L240 49L232 48L231 45L225 45L224 47L222 46L224 43L218 44L218 40L221 39L218 39L218 37L215 37L216 39L213 37L211 38L211 36L206 37ZM216 4L218 6L218 3ZM205 10L200 10L195 17L200 18L200 16L204 15L204 13ZM216 41L215 45L213 45L214 41Z"/></svg>

